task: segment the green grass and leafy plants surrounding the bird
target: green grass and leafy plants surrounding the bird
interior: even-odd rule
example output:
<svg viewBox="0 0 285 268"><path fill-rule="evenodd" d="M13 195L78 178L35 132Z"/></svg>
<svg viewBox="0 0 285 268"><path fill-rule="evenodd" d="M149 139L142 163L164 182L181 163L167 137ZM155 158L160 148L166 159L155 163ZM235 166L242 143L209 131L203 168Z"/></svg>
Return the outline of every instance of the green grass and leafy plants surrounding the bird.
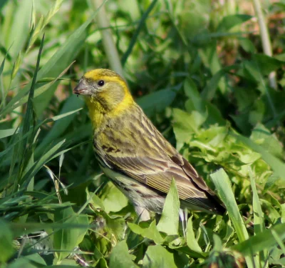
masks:
<svg viewBox="0 0 285 268"><path fill-rule="evenodd" d="M285 5L259 6L266 53L253 10L0 1L1 267L284 267ZM184 234L173 182L160 219L138 223L100 171L72 94L86 70L110 66L123 66L138 104L227 214L189 212Z"/></svg>

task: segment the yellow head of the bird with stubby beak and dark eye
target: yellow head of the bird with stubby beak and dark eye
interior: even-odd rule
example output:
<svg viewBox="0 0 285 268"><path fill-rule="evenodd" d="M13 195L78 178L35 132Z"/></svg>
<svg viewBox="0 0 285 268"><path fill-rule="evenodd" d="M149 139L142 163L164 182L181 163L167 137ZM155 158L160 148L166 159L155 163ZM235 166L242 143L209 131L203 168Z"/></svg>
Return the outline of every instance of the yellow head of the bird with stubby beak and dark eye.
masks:
<svg viewBox="0 0 285 268"><path fill-rule="evenodd" d="M95 69L84 74L74 94L86 96L89 109L113 112L133 104L125 80L114 71Z"/></svg>

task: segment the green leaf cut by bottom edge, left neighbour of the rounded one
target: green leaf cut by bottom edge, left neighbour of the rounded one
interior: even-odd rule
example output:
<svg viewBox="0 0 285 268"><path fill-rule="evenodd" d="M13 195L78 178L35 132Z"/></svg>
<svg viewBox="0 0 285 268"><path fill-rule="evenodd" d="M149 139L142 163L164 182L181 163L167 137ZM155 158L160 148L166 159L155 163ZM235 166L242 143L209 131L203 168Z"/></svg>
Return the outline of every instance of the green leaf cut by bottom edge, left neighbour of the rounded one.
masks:
<svg viewBox="0 0 285 268"><path fill-rule="evenodd" d="M119 242L110 255L110 268L138 268L133 262L132 256L128 252L125 240Z"/></svg>

